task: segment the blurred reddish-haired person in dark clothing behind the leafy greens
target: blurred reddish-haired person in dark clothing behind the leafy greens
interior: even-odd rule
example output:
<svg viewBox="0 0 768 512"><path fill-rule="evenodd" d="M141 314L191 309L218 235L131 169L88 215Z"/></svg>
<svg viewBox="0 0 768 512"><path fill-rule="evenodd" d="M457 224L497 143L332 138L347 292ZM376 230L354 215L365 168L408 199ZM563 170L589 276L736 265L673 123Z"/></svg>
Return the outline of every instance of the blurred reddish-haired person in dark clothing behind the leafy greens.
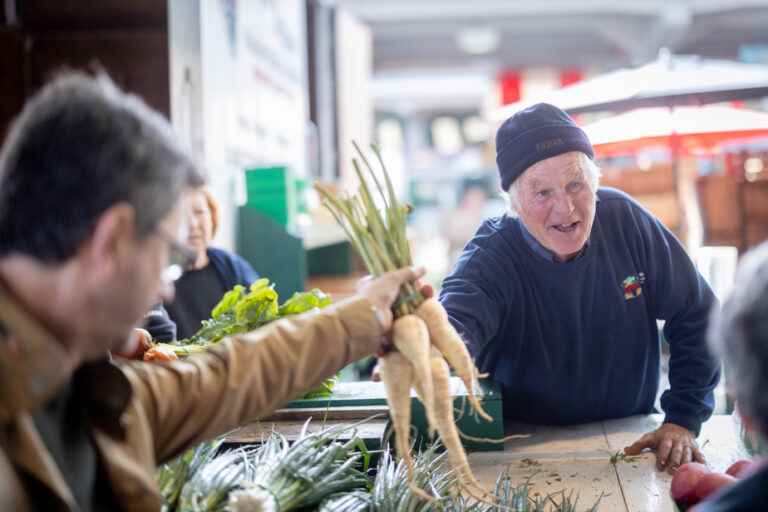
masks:
<svg viewBox="0 0 768 512"><path fill-rule="evenodd" d="M170 319L176 324L179 339L189 338L200 323L211 317L211 310L235 285L248 287L258 274L237 254L211 247L219 229L219 205L208 187L197 187L186 194L187 245L196 254L190 267L176 281L176 295L165 302Z"/></svg>

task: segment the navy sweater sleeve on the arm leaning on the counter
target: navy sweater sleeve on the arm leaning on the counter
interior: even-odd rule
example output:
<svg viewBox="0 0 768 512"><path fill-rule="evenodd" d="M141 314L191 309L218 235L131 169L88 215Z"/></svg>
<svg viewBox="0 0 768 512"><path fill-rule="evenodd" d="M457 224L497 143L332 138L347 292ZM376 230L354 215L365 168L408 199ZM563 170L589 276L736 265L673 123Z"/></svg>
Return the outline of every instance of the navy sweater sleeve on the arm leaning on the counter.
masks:
<svg viewBox="0 0 768 512"><path fill-rule="evenodd" d="M650 213L641 215L651 302L656 318L665 321L670 349L670 388L661 395L664 421L698 435L712 414L713 390L720 380L720 363L706 343L717 300L677 238Z"/></svg>

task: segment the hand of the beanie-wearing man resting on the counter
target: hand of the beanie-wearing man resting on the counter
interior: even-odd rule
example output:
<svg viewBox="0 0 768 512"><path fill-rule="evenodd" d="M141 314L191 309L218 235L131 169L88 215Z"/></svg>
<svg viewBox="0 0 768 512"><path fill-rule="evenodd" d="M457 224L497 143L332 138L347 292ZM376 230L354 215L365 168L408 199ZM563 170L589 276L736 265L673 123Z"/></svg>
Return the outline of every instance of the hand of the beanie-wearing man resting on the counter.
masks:
<svg viewBox="0 0 768 512"><path fill-rule="evenodd" d="M645 434L624 448L624 453L638 455L646 448L656 452L656 465L659 470L666 469L669 473L674 473L686 462L706 463L693 432L674 423L664 423L653 432Z"/></svg>

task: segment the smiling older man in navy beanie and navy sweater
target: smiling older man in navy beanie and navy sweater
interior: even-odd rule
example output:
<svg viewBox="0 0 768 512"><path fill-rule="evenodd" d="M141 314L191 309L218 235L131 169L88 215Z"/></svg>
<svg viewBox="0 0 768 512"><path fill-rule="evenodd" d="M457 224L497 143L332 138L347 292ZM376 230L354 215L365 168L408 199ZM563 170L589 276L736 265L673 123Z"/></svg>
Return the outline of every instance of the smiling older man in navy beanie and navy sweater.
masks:
<svg viewBox="0 0 768 512"><path fill-rule="evenodd" d="M483 223L440 298L500 384L505 416L569 424L654 412L661 319L666 417L628 451L656 449L659 467L701 460L695 437L719 379L705 346L709 286L653 215L598 189L592 146L560 109L518 112L496 151L510 213Z"/></svg>

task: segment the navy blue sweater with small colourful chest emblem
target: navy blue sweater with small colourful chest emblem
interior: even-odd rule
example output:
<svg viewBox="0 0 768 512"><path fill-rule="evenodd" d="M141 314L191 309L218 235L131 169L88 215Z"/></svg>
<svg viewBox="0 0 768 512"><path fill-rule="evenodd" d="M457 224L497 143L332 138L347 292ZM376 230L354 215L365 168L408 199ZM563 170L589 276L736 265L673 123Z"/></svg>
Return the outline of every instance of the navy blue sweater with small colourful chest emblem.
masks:
<svg viewBox="0 0 768 512"><path fill-rule="evenodd" d="M677 239L622 192L598 191L582 255L534 252L520 221L486 221L443 282L440 300L505 416L568 424L654 412L666 320L671 389L665 421L698 433L719 364L705 334L714 295Z"/></svg>

